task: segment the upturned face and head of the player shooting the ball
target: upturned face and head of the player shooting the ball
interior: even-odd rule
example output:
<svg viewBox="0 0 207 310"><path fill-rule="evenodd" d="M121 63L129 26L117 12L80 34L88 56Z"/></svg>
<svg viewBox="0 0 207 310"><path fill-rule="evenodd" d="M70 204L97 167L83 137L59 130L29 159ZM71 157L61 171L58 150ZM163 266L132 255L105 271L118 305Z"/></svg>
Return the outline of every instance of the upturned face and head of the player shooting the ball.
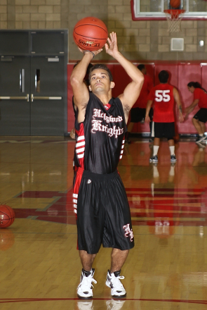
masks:
<svg viewBox="0 0 207 310"><path fill-rule="evenodd" d="M104 69L95 69L91 74L91 88L93 93L96 92L108 92L111 87L112 82L109 80L109 75Z"/></svg>

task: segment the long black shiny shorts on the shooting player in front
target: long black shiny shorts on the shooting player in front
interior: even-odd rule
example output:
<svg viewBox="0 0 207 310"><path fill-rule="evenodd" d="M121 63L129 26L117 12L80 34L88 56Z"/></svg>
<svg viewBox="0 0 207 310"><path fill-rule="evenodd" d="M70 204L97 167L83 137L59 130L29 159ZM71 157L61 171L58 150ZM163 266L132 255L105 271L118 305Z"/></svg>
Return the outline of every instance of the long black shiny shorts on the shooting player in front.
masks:
<svg viewBox="0 0 207 310"><path fill-rule="evenodd" d="M96 254L101 244L121 250L134 247L131 213L118 171L84 171L76 202L79 250Z"/></svg>

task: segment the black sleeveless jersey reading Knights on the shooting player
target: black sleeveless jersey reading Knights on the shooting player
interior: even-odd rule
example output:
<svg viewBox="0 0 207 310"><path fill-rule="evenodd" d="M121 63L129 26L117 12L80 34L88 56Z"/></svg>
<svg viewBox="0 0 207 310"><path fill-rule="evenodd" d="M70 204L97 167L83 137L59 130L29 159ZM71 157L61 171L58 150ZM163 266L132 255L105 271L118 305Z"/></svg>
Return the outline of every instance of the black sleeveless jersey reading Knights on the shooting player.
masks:
<svg viewBox="0 0 207 310"><path fill-rule="evenodd" d="M75 122L75 166L93 173L113 173L123 154L126 122L119 98L107 106L90 93L83 123Z"/></svg>

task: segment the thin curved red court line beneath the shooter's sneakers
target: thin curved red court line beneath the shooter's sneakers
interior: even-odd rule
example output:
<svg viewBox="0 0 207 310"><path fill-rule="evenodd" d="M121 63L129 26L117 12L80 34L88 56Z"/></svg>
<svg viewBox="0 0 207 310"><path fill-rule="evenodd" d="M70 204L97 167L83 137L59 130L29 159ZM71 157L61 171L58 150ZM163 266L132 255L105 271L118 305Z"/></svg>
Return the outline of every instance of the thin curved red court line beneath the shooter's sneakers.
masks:
<svg viewBox="0 0 207 310"><path fill-rule="evenodd" d="M93 300L111 300L112 298L93 298ZM50 302L50 301L69 301L69 300L82 300L79 298L0 298L0 304L11 302ZM207 304L207 300L184 300L184 299L145 299L145 298L123 298L126 301L139 301L139 302L178 302L185 304Z"/></svg>

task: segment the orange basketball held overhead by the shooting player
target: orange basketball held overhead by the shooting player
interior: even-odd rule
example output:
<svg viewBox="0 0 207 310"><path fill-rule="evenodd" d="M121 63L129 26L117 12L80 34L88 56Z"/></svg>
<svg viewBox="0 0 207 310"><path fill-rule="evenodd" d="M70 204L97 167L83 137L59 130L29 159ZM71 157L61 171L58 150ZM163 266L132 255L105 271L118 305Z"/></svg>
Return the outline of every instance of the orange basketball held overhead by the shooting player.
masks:
<svg viewBox="0 0 207 310"><path fill-rule="evenodd" d="M95 17L82 18L74 27L73 37L80 49L97 51L107 42L107 26Z"/></svg>

